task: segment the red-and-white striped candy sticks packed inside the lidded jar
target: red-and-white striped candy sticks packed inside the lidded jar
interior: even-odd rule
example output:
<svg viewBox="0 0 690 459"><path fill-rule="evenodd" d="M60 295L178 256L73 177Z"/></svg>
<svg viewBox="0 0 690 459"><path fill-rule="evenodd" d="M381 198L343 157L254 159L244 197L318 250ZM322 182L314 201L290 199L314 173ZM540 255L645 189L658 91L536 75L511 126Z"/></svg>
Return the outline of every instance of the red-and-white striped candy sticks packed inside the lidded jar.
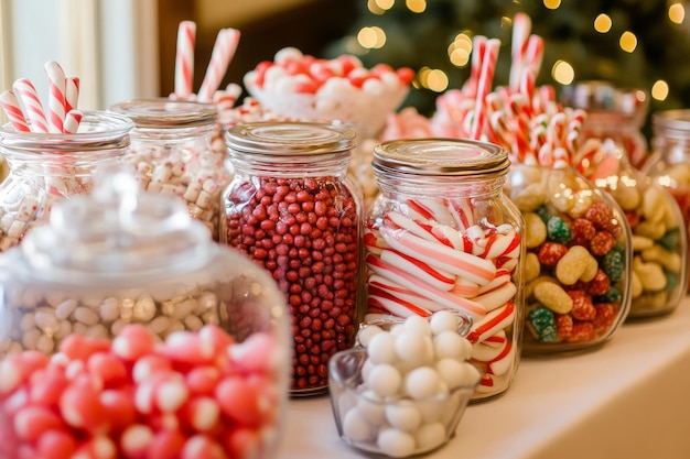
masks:
<svg viewBox="0 0 690 459"><path fill-rule="evenodd" d="M467 339L483 372L477 396L503 392L516 364L513 329L521 254L513 225L479 219L473 200L408 199L365 229L368 314L429 317L450 308L473 318Z"/></svg>

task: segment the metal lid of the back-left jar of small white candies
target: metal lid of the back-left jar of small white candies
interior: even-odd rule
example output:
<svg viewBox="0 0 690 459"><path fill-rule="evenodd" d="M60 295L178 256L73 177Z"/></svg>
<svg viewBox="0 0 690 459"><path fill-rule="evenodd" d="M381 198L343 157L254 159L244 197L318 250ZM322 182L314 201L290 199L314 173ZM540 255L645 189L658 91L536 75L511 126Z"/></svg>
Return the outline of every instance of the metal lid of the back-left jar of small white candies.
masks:
<svg viewBox="0 0 690 459"><path fill-rule="evenodd" d="M212 103L171 100L166 98L140 99L110 107L134 122L139 129L181 129L213 124L218 110Z"/></svg>

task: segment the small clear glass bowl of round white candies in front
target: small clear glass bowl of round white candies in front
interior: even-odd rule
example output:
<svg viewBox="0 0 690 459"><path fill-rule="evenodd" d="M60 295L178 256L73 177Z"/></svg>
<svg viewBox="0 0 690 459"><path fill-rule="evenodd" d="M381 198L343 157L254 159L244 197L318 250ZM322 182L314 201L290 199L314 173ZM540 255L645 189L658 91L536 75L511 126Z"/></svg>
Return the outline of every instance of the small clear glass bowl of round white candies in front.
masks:
<svg viewBox="0 0 690 459"><path fill-rule="evenodd" d="M466 328L448 310L365 324L358 346L328 365L341 438L388 457L428 452L453 438L481 378L467 360Z"/></svg>

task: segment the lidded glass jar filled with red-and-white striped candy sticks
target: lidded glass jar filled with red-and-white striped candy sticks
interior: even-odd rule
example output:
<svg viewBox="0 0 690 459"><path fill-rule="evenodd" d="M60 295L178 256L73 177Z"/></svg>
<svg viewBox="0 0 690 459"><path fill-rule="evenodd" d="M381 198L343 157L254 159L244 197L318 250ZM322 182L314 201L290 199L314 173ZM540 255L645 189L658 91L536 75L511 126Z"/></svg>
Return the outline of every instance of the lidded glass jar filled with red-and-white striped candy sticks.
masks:
<svg viewBox="0 0 690 459"><path fill-rule="evenodd" d="M470 314L473 401L504 393L522 329L524 220L503 193L506 150L465 140L384 142L373 161L380 195L365 222L365 320Z"/></svg>

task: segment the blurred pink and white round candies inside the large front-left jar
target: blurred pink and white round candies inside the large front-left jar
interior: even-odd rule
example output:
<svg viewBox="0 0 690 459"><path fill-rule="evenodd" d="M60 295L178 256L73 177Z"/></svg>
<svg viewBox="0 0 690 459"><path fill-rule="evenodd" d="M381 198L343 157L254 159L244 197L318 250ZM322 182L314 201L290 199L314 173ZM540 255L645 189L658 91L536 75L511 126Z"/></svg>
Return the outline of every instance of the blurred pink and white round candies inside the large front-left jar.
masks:
<svg viewBox="0 0 690 459"><path fill-rule="evenodd" d="M205 326L157 342L133 325L115 340L72 335L53 357L0 361L0 457L262 457L279 429L278 345Z"/></svg>

